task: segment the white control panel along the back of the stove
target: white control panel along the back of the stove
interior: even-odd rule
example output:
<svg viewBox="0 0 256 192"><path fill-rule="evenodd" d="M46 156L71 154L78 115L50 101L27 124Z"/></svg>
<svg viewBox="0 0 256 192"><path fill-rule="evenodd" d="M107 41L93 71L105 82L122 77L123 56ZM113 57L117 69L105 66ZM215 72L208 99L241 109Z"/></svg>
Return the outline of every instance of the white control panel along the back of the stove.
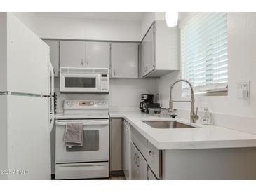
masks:
<svg viewBox="0 0 256 192"><path fill-rule="evenodd" d="M64 109L107 109L107 100L65 100Z"/></svg>

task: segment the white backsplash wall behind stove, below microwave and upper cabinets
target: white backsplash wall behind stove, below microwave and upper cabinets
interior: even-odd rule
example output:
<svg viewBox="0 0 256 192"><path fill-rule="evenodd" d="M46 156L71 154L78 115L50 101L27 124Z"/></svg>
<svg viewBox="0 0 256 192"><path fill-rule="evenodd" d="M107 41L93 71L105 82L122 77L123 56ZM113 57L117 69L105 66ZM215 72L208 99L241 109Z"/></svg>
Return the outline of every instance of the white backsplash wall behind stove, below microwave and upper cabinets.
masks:
<svg viewBox="0 0 256 192"><path fill-rule="evenodd" d="M59 78L55 78L58 113L63 111L64 100L109 100L109 111L139 111L140 94L156 94L156 80L112 78L109 80L109 95L60 94L59 88Z"/></svg>

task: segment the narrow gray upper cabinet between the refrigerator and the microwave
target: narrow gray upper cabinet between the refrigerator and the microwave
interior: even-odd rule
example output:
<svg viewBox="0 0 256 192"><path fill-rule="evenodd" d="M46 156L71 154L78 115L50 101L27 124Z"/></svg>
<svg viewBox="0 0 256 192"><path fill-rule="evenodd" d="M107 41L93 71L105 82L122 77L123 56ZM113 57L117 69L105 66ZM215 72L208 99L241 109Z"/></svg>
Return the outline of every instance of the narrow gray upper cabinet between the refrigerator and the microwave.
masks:
<svg viewBox="0 0 256 192"><path fill-rule="evenodd" d="M53 40L45 40L50 46L50 62L53 64L54 76L59 76L59 42Z"/></svg>

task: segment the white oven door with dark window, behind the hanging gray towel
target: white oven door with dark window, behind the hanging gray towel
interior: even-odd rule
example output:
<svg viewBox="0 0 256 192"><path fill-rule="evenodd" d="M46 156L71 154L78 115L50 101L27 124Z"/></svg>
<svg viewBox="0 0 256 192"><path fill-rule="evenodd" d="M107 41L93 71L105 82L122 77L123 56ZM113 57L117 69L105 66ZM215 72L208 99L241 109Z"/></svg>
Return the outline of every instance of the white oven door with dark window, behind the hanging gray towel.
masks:
<svg viewBox="0 0 256 192"><path fill-rule="evenodd" d="M67 122L83 123L83 146L66 146ZM57 120L55 123L55 162L84 163L109 160L109 120Z"/></svg>

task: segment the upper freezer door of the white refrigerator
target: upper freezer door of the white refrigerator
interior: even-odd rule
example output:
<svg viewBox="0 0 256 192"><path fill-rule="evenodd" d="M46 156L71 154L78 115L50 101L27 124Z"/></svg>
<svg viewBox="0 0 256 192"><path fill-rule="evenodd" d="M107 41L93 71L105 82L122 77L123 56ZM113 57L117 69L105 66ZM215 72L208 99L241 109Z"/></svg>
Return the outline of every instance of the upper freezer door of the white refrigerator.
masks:
<svg viewBox="0 0 256 192"><path fill-rule="evenodd" d="M7 90L48 95L49 46L7 13Z"/></svg>

